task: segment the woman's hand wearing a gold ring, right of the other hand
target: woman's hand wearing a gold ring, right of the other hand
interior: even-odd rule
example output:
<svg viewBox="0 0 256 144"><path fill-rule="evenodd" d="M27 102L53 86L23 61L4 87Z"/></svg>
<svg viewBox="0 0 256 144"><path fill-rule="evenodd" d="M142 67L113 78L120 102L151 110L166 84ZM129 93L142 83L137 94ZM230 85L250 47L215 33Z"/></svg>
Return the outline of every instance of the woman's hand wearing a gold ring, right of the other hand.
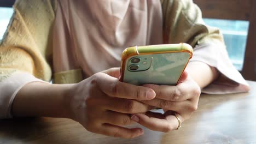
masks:
<svg viewBox="0 0 256 144"><path fill-rule="evenodd" d="M161 107L165 113L147 112L132 115L133 121L155 131L168 132L176 130L181 123L189 119L197 109L201 89L184 71L176 86L143 85L154 89L156 97L152 100L140 100L142 103ZM176 118L178 117L178 118Z"/></svg>

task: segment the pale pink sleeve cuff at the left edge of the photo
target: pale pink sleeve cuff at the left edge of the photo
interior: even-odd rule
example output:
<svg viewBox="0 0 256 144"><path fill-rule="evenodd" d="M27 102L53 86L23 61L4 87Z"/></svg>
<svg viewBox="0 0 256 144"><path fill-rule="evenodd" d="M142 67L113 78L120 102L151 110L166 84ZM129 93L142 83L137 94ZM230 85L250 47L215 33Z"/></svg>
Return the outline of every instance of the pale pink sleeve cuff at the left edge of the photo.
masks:
<svg viewBox="0 0 256 144"><path fill-rule="evenodd" d="M33 75L17 72L0 82L0 119L11 118L11 105L19 90L29 82L40 81Z"/></svg>

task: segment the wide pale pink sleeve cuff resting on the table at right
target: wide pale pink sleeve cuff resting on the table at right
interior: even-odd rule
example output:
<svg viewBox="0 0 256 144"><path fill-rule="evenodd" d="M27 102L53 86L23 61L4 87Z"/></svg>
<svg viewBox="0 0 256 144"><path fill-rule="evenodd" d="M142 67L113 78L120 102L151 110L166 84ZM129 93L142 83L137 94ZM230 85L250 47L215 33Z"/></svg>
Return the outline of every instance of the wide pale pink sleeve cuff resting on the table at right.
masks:
<svg viewBox="0 0 256 144"><path fill-rule="evenodd" d="M222 44L199 44L194 48L190 62L200 61L219 71L216 81L202 89L202 93L228 94L247 92L249 85L232 65L225 46Z"/></svg>

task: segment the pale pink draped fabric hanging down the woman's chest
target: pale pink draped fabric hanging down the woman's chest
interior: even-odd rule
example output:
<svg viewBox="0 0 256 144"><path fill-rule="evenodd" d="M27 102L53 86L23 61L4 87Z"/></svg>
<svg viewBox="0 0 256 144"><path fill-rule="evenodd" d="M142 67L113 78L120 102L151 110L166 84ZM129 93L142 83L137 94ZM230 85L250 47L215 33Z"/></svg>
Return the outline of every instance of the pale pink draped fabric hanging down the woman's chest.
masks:
<svg viewBox="0 0 256 144"><path fill-rule="evenodd" d="M126 47L163 43L161 3L61 0L53 29L55 73L82 69L89 77L120 67Z"/></svg>

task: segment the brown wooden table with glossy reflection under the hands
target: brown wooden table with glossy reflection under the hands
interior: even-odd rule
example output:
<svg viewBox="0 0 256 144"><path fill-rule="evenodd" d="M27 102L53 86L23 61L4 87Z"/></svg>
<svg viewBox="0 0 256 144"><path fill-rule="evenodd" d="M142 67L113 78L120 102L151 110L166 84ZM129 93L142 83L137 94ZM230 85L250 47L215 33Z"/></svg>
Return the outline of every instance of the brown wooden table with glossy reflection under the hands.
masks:
<svg viewBox="0 0 256 144"><path fill-rule="evenodd" d="M199 109L170 133L144 128L135 139L119 139L86 131L65 118L0 121L0 143L256 143L256 82L249 93L202 94Z"/></svg>

